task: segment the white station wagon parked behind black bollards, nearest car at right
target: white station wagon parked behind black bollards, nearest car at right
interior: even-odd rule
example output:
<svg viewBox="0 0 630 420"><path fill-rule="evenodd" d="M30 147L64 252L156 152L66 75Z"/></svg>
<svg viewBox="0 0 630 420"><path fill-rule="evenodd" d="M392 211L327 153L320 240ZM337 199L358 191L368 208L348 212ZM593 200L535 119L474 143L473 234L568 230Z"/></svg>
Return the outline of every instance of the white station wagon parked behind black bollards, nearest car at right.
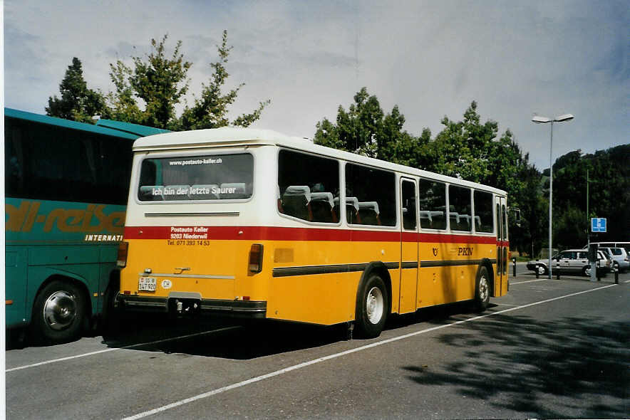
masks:
<svg viewBox="0 0 630 420"><path fill-rule="evenodd" d="M611 261L604 253L597 251L597 274L606 275L611 269ZM538 271L539 274L549 273L549 260L536 260L527 263L527 270ZM585 249L567 249L552 257L552 272L579 274L590 276L588 251Z"/></svg>

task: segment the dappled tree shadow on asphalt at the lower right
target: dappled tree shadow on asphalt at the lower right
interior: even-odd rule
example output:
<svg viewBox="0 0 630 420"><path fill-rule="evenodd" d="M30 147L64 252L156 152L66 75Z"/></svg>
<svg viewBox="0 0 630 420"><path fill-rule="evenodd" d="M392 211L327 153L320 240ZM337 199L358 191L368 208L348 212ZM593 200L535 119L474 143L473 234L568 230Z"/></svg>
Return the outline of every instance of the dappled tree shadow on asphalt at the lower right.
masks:
<svg viewBox="0 0 630 420"><path fill-rule="evenodd" d="M465 398L528 416L627 418L626 323L578 317L545 323L496 315L492 322L471 322L466 329L470 332L439 338L443 345L465 348L465 359L453 360L440 372L426 366L403 369L419 384L455 387ZM555 409L545 404L549 398L555 399Z"/></svg>

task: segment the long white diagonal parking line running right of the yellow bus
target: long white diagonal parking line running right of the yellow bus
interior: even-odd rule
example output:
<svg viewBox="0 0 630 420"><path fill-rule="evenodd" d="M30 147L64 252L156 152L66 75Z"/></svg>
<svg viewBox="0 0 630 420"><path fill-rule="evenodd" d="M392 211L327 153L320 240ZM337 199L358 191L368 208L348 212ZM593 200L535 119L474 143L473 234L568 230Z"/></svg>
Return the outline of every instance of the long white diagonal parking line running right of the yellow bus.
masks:
<svg viewBox="0 0 630 420"><path fill-rule="evenodd" d="M426 330L410 332L409 334L406 334L406 335L400 335L398 337L392 337L392 338L389 338L387 340L382 340L382 341L379 341L379 342L373 342L373 343L368 344L368 345L364 345L364 346L361 346L361 347L356 347L355 349L346 350L345 352L340 352L340 353L335 353L334 355L319 357L319 359L309 360L308 362L304 362L304 363L300 363L300 364L294 364L293 366L289 366L289 367L286 367L284 369L277 370L275 372L264 374L264 375L261 375L259 377L254 377L252 379L247 379L247 380L244 380L242 382L237 382L236 384L228 385L227 387L213 389L212 391L205 392L205 393L199 394L199 395L195 395L195 397L182 399L180 401L175 401L175 402L173 402L171 404L167 404L165 406L158 407L157 409L153 409L153 410L149 410L149 411L143 411L142 413L138 413L138 414L135 414L133 416L125 417L123 420L142 419L143 417L151 416L153 414L158 414L158 413L161 413L162 411L167 411L169 409L174 409L177 406L182 406L184 404L189 404L191 402L194 402L194 401L197 401L197 400L200 400L200 399L204 399L204 398L207 398L207 397L212 397L213 395L221 394L222 392L226 392L226 391L229 391L231 389L244 387L245 385L254 384L256 382L263 381L264 379L277 377L279 375L282 375L282 374L285 374L285 373L288 373L288 372L292 372L292 371L297 370L297 369L302 369L303 367L311 366L311 364L325 362L326 360L336 359L337 357L351 355L352 353L361 352L363 350L368 350L368 349L371 349L373 347L378 347L378 346L381 346L381 345L386 345L386 344L389 344L391 342L396 342L396 341L399 341L399 340L405 340L406 338L415 337L416 335L424 334L425 332L441 330L442 328L452 327L453 325L460 325L460 324L464 324L465 322L472 322L472 321L475 321L475 320L481 320L481 319L486 318L486 317L491 317L491 316L494 316L494 315L499 315L499 314L502 314L502 313L511 312L512 310L519 310L519 309L523 309L523 308L529 308L530 306L542 305L543 303L553 302L554 300L566 299L566 298L570 298L572 296L582 295L584 293L591 293L591 292L594 292L594 291L597 291L597 290L603 290L603 289L607 289L607 288L612 288L614 286L616 286L616 285L614 285L614 284L606 285L606 286L602 286L601 288L597 288L597 289L584 290L582 292L571 293L569 295L559 296L558 298L551 298L551 299L540 300L539 302L528 303L527 305L520 305L520 306L517 306L516 308L508 308L508 309L500 310L500 311L497 311L497 312L494 312L494 313L489 313L489 314L486 314L486 315L479 315L479 316L476 316L476 317L472 317L472 318L469 318L468 320L460 320L460 321L452 322L450 324L438 325L437 327L427 328Z"/></svg>

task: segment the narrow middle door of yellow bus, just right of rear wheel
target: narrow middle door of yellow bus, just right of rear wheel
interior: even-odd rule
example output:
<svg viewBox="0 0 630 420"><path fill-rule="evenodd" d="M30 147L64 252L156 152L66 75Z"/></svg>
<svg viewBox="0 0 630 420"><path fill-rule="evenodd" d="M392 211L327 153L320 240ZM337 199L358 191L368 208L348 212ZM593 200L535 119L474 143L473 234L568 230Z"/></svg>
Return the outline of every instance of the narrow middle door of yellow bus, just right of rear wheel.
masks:
<svg viewBox="0 0 630 420"><path fill-rule="evenodd" d="M401 178L401 295L399 313L415 311L418 293L418 204L415 180Z"/></svg>

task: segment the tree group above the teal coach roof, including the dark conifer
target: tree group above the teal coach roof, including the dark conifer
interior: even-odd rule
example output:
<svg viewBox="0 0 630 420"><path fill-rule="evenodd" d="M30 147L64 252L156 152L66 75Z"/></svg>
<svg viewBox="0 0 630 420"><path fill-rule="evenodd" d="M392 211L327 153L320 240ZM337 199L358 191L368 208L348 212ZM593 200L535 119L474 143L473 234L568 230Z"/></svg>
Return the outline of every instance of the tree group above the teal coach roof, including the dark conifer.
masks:
<svg viewBox="0 0 630 420"><path fill-rule="evenodd" d="M232 47L227 45L227 31L223 31L222 43L217 46L219 60L211 63L212 75L202 84L199 97L194 96L191 107L183 106L180 116L177 105L182 104L190 88L188 70L192 63L182 53L182 41L177 41L172 53L167 53L168 36L151 40L151 51L144 57L132 57L131 65L118 60L110 63L110 80L113 91L103 96L89 90L83 80L81 61L73 59L66 71L60 90L61 99L48 100L46 112L70 120L91 122L100 114L113 120L133 122L168 130L196 130L201 128L237 125L248 127L259 120L270 100L264 100L252 112L229 119L229 110L237 100L239 90L245 85L227 90L227 62Z"/></svg>

